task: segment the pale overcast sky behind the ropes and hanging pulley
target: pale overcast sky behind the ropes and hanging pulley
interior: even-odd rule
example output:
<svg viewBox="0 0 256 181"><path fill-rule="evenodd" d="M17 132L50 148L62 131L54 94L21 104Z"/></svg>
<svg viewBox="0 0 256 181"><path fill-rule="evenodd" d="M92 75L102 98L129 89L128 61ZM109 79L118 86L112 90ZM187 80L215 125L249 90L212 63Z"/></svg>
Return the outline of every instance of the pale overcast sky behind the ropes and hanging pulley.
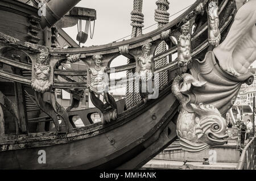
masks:
<svg viewBox="0 0 256 181"><path fill-rule="evenodd" d="M168 12L170 15L176 14L176 12L181 11L192 5L196 0L169 0L170 9ZM144 14L144 28L152 26L155 24L154 13L157 6L155 0L144 0L142 13ZM131 11L133 10L133 0L82 0L76 6L87 7L90 9L95 9L97 11L97 20L95 23L95 30L93 39L88 37L85 44L81 46L89 47L91 45L102 45L112 43L113 41L123 40L131 34ZM186 9L185 9L186 10ZM179 12L172 17L170 21L175 19L177 16L182 14L185 10ZM92 22L93 27L93 22ZM82 30L84 31L85 21L82 22ZM148 33L157 28L157 24L154 26L143 30L142 33ZM72 39L76 40L77 26L64 28L64 31L68 33ZM125 39L130 39L130 36ZM77 41L76 41L77 42ZM78 42L77 42L78 43ZM111 66L119 66L126 64L127 58L119 56L113 60ZM126 73L118 73L115 75L116 78L125 77ZM114 78L111 76L110 78Z"/></svg>

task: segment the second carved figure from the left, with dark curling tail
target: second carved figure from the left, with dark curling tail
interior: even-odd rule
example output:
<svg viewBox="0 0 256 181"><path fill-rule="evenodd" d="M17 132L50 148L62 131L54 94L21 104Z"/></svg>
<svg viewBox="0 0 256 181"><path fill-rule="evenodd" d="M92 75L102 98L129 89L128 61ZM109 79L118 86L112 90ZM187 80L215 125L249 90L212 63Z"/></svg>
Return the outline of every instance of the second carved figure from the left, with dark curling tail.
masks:
<svg viewBox="0 0 256 181"><path fill-rule="evenodd" d="M101 55L93 56L95 65L90 65L89 72L89 90L90 99L94 106L96 106L101 112L101 121L103 124L110 123L117 119L117 104L114 98L107 92L108 88L108 73L106 73L106 66L101 65ZM99 96L103 93L104 104L100 100ZM97 96L96 96L97 95Z"/></svg>

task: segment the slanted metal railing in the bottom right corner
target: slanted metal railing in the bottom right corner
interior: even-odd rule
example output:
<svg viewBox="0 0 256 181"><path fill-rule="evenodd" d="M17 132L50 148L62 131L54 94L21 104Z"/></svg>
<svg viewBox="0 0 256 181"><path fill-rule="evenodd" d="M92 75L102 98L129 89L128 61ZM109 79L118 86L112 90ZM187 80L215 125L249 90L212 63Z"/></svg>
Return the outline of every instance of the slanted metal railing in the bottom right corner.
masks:
<svg viewBox="0 0 256 181"><path fill-rule="evenodd" d="M256 138L251 137L250 142L243 148L236 170L256 169Z"/></svg>

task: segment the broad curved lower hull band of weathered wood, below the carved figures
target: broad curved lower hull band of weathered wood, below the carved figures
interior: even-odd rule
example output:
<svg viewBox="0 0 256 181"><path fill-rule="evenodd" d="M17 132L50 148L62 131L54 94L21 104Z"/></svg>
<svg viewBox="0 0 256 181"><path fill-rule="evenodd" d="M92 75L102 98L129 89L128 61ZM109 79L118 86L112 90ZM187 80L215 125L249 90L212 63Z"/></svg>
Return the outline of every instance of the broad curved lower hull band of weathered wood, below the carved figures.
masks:
<svg viewBox="0 0 256 181"><path fill-rule="evenodd" d="M138 154L141 152L141 145L146 140L151 139L160 125L165 123L167 119L163 119L163 117L166 112L171 109L171 112L174 113L173 111L179 105L175 102L176 99L170 92L169 87L165 94L162 95L162 98L152 100L151 104L141 105L139 109L128 111L129 115L123 112L119 120L112 124L98 124L97 127L79 132L74 129L75 132L67 135L40 136L40 141L36 136L31 137L31 134L30 138L22 138L20 136L19 141L16 141L20 142L20 144L9 145L9 150L14 148L19 150L1 151L0 160L3 164L1 164L0 168L89 169L103 165L114 158L118 159L123 154L125 154L123 158L127 158L129 150L132 148L135 150L133 154ZM156 115L156 117L152 117L152 115ZM154 140L155 138L152 142ZM50 142L52 146L48 145ZM2 145L1 149L4 148L6 146ZM46 165L38 164L38 150L41 149L47 153ZM16 157L13 157L14 155ZM74 155L76 156L74 157ZM30 157L30 159L27 157ZM10 164L10 162L13 164ZM19 165L17 164L18 162L20 163ZM113 165L113 167L117 167L120 164L117 162L117 165Z"/></svg>

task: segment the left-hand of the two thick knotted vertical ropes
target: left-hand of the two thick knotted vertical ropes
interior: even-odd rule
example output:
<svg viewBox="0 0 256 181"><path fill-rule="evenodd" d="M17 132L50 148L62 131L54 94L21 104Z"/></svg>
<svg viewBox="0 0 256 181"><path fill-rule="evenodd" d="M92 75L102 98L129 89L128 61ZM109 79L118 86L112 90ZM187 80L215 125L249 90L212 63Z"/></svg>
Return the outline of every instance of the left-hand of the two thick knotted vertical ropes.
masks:
<svg viewBox="0 0 256 181"><path fill-rule="evenodd" d="M133 11L131 11L131 26L133 27L131 32L131 38L141 36L142 28L144 25L144 15L142 14L142 4L143 0L134 0L133 1ZM127 60L127 64L130 64L130 60ZM126 77L133 75L132 70L126 72ZM141 96L139 95L138 85L130 85L131 82L126 85L126 108L131 108L141 102ZM130 85L130 86L129 86Z"/></svg>

